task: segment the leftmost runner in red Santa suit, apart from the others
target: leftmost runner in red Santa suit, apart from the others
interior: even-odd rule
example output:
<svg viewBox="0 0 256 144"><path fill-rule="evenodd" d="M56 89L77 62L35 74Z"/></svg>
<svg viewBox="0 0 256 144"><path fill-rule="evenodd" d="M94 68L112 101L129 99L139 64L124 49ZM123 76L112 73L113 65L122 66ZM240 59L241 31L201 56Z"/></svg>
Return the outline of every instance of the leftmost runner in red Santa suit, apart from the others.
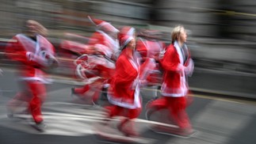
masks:
<svg viewBox="0 0 256 144"><path fill-rule="evenodd" d="M43 128L44 119L41 113L41 105L46 97L45 84L48 79L45 77L44 68L53 66L56 63L55 49L44 37L47 29L36 21L26 21L27 32L17 34L6 47L6 55L20 65L20 80L22 90L10 100L7 108L10 116L17 106L28 102L28 111L31 113L36 126Z"/></svg>

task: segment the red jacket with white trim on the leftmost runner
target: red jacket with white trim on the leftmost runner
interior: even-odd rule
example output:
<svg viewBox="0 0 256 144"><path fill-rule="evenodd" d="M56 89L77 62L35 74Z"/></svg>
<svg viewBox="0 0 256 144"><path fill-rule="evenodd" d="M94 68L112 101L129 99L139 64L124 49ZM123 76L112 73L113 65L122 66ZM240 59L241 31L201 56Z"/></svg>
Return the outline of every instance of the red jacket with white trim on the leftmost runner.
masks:
<svg viewBox="0 0 256 144"><path fill-rule="evenodd" d="M6 46L6 55L10 59L21 63L21 78L31 81L44 81L44 71L42 68L48 66L44 54L55 55L52 44L37 35L36 41L23 34L13 36L13 40Z"/></svg>

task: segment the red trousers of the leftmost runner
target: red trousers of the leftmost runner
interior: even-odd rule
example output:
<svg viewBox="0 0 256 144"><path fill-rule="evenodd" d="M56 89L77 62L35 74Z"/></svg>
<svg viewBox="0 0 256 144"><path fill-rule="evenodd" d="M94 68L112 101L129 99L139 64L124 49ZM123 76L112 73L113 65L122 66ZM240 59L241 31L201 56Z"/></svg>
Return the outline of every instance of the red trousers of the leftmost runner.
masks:
<svg viewBox="0 0 256 144"><path fill-rule="evenodd" d="M12 100L10 100L8 106L14 109L17 106L21 106L23 102L28 103L28 110L32 115L32 118L36 123L43 121L41 113L41 105L46 97L46 88L44 83L40 81L25 81L21 84L22 91L17 93Z"/></svg>

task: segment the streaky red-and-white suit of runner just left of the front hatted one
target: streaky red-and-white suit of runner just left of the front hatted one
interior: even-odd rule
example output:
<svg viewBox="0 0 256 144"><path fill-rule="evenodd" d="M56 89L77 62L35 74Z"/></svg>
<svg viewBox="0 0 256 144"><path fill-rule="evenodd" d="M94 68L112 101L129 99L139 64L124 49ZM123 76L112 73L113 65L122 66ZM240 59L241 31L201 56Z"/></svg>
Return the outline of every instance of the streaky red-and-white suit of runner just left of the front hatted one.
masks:
<svg viewBox="0 0 256 144"><path fill-rule="evenodd" d="M102 55L81 55L75 60L76 75L86 82L81 88L75 88L73 93L80 98L86 98L86 92L94 89L93 102L97 102L104 85L108 85L115 72L115 64Z"/></svg>

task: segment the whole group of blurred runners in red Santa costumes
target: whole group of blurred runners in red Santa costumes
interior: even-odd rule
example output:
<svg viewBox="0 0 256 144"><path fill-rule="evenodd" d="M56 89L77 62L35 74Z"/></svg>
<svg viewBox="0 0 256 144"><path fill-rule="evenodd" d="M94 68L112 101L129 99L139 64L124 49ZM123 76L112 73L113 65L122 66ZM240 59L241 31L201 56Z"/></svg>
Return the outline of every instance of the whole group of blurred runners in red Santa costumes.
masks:
<svg viewBox="0 0 256 144"><path fill-rule="evenodd" d="M170 44L161 41L162 33L152 29L140 29L129 25L115 28L108 21L88 16L95 31L90 37L67 33L70 40L61 40L62 54L74 70L74 78L82 81L82 87L71 89L71 95L80 99L90 97L97 104L101 91L105 90L109 105L105 106L104 126L114 116L124 116L117 129L126 136L139 136L132 124L142 110L139 89L145 85L155 90L162 85L162 97L152 97L148 108L167 108L178 129L176 135L193 133L185 108L189 101L188 77L193 73L193 60L186 46L187 31L177 25L171 32ZM20 63L21 91L7 104L8 116L17 114L17 108L27 103L25 113L31 114L38 131L46 127L41 106L47 97L45 85L51 83L47 70L59 65L55 47L47 39L48 29L37 21L25 22L25 31L18 33L5 47L8 59ZM86 40L86 43L78 42ZM175 104L174 104L175 103ZM19 113L19 112L18 112ZM124 126L130 125L128 129Z"/></svg>

